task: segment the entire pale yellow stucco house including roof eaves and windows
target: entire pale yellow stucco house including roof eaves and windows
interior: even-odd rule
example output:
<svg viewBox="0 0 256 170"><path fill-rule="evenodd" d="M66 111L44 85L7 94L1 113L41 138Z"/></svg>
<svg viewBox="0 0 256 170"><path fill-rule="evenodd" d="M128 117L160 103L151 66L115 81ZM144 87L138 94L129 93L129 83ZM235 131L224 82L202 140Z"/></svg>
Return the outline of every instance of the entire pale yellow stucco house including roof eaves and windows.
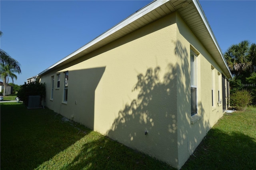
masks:
<svg viewBox="0 0 256 170"><path fill-rule="evenodd" d="M178 169L232 78L196 0L154 1L38 76L48 108Z"/></svg>

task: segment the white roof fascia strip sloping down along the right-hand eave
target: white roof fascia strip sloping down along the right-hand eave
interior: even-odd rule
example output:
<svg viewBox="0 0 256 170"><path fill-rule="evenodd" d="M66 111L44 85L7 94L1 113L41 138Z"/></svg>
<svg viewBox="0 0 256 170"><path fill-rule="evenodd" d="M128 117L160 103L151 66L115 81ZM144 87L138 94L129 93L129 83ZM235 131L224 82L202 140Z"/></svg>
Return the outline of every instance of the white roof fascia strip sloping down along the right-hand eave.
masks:
<svg viewBox="0 0 256 170"><path fill-rule="evenodd" d="M229 69L229 67L228 67L228 64L227 64L227 62L226 62L226 60L225 60L225 58L224 58L224 56L223 56L223 54L222 54L222 51L221 51L221 49L220 49L220 46L219 46L219 44L218 44L218 42L217 42L217 40L216 40L216 37L214 36L214 34L213 34L213 32L212 32L212 29L210 28L210 24L209 24L208 20L206 19L206 16L205 16L205 14L204 14L204 12L203 12L203 10L202 10L201 5L199 4L199 1L198 1L198 0L193 0L193 2L194 2L194 4L195 4L196 9L198 10L200 16L202 17L202 20L204 21L204 24L205 24L205 26L206 26L208 32L210 33L210 35L211 35L211 37L212 37L212 40L214 41L214 44L215 44L216 47L218 48L218 51L220 52L220 55L221 55L221 57L222 57L222 60L224 61L225 65L226 65L226 68L228 69L228 72L229 72L231 78L233 78L233 76L232 76L232 74L231 74L231 71L230 71L230 69Z"/></svg>

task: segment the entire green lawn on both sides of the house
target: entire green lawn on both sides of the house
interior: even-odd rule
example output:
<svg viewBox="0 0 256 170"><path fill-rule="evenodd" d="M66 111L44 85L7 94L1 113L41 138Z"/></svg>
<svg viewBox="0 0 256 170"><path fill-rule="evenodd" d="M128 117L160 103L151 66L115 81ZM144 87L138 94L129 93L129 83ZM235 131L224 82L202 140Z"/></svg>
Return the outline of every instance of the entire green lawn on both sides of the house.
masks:
<svg viewBox="0 0 256 170"><path fill-rule="evenodd" d="M1 103L1 170L174 170L52 110ZM196 156L196 157L195 157ZM224 114L182 170L256 170L256 108Z"/></svg>

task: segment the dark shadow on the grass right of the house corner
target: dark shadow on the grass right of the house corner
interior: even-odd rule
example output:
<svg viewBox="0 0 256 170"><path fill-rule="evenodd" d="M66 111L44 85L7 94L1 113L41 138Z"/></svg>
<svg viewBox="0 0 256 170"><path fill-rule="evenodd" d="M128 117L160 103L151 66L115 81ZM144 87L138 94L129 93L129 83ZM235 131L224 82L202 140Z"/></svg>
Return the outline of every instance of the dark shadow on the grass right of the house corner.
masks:
<svg viewBox="0 0 256 170"><path fill-rule="evenodd" d="M211 129L182 170L253 170L255 160L256 137Z"/></svg>

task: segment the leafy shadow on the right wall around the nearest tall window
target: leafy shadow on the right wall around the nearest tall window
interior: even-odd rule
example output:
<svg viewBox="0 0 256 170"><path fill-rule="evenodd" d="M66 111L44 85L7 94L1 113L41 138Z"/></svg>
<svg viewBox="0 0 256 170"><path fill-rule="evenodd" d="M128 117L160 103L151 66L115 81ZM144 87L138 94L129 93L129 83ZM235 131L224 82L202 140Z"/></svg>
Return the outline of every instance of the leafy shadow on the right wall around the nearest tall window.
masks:
<svg viewBox="0 0 256 170"><path fill-rule="evenodd" d="M191 124L191 94L190 94L190 49L187 49L180 41L173 42L176 45L175 54L178 56L177 72L177 96L178 100L178 115L179 115L179 144L185 147L182 152L189 152L191 155L193 150L198 146L202 137L207 134L210 130L210 120L206 118L206 110L201 101L200 93L201 89L197 88L196 102L197 102L197 113L202 116L202 120L197 121L195 124ZM190 47L191 48L191 47ZM197 60L200 60L199 58ZM198 64L197 74L200 76L200 65ZM201 82L204 77L201 77ZM200 81L198 79L199 86ZM210 90L209 90L210 92ZM206 95L206 94L204 94ZM209 94L210 95L210 94ZM200 98L199 98L200 97ZM193 135L191 135L193 134ZM192 136L192 137L191 137ZM186 146L188 148L186 148Z"/></svg>

